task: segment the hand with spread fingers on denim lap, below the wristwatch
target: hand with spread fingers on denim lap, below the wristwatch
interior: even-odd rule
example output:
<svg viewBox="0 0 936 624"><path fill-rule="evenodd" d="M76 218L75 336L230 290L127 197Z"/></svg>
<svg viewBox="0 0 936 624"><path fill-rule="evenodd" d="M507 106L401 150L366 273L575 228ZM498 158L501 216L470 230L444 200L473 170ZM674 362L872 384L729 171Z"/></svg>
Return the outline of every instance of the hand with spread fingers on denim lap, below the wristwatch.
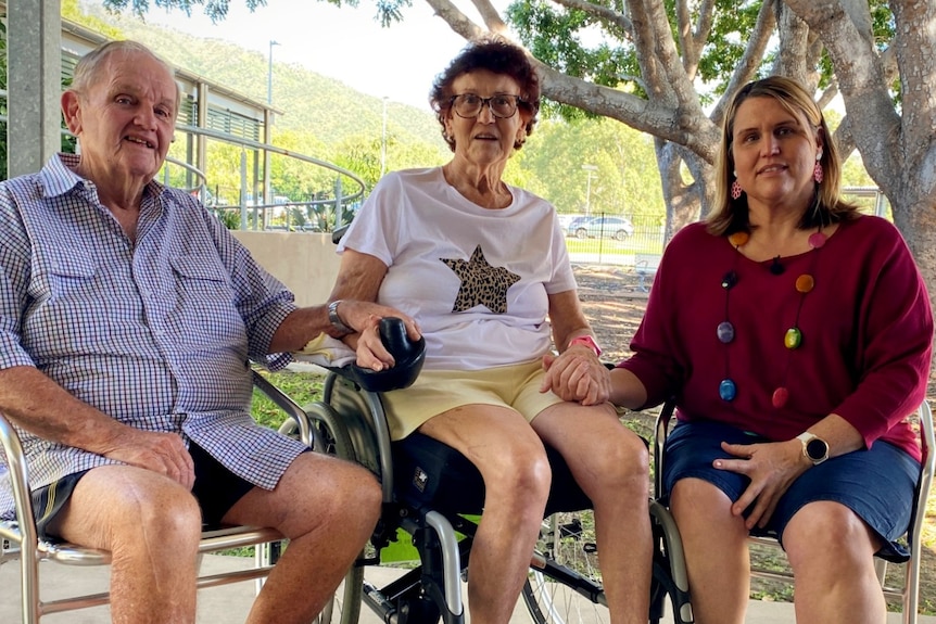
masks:
<svg viewBox="0 0 936 624"><path fill-rule="evenodd" d="M744 474L750 484L731 506L734 515L742 515L754 505L745 520L748 530L767 525L780 497L797 477L809 469L802 458L798 440L766 444L721 443L725 453L738 459L716 459L714 468Z"/></svg>

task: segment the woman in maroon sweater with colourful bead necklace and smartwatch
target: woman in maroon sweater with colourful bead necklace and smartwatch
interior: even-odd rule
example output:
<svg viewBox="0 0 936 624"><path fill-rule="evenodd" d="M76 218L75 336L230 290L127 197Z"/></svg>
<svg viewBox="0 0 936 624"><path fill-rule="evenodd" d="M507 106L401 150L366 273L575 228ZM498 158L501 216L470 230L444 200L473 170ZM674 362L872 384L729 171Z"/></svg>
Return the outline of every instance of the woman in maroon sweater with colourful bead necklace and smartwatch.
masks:
<svg viewBox="0 0 936 624"><path fill-rule="evenodd" d="M743 87L720 155L717 209L667 247L611 400L678 397L663 479L696 622L744 622L746 538L770 531L797 622L881 624L873 556L903 556L920 474L924 282L894 226L839 196L835 143L796 82Z"/></svg>

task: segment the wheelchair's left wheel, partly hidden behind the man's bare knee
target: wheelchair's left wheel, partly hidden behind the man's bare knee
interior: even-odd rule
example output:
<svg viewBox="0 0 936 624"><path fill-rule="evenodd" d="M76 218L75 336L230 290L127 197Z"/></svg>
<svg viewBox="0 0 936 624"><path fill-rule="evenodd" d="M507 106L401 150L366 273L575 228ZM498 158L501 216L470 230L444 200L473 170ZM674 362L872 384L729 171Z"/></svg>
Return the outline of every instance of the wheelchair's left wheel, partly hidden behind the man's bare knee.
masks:
<svg viewBox="0 0 936 624"><path fill-rule="evenodd" d="M355 461L354 445L334 410L321 403L307 406L305 410L313 430L313 450ZM298 435L298 429L295 421L290 419L280 426L280 433ZM357 624L363 587L364 569L353 565L314 624Z"/></svg>

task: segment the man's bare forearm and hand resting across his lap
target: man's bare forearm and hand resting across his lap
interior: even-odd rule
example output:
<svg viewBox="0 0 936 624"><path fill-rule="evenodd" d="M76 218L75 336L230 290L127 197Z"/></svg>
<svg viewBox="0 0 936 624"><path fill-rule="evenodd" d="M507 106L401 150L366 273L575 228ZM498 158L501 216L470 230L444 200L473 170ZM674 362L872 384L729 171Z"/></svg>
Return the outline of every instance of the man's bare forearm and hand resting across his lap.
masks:
<svg viewBox="0 0 936 624"><path fill-rule="evenodd" d="M134 429L84 403L28 366L0 370L0 410L46 440L165 474L187 487L192 459L174 433Z"/></svg>

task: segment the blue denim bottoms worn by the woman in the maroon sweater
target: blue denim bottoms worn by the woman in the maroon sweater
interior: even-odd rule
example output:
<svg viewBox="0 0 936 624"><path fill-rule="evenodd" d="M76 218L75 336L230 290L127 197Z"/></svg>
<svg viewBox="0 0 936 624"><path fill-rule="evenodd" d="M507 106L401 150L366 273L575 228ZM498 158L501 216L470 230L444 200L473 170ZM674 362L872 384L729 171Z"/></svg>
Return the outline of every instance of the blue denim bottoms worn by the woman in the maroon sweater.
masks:
<svg viewBox="0 0 936 624"><path fill-rule="evenodd" d="M734 426L692 421L676 423L667 438L663 451L663 483L672 492L676 481L701 479L737 500L750 481L743 474L712 468L716 459L732 459L721 443L758 444L766 437ZM851 509L886 543L878 557L894 562L909 558L903 544L897 542L910 525L915 502L920 463L903 450L886 442L870 449L833 457L807 470L781 497L764 529L756 535L772 535L783 544L783 531L799 509L817 500L833 500Z"/></svg>

